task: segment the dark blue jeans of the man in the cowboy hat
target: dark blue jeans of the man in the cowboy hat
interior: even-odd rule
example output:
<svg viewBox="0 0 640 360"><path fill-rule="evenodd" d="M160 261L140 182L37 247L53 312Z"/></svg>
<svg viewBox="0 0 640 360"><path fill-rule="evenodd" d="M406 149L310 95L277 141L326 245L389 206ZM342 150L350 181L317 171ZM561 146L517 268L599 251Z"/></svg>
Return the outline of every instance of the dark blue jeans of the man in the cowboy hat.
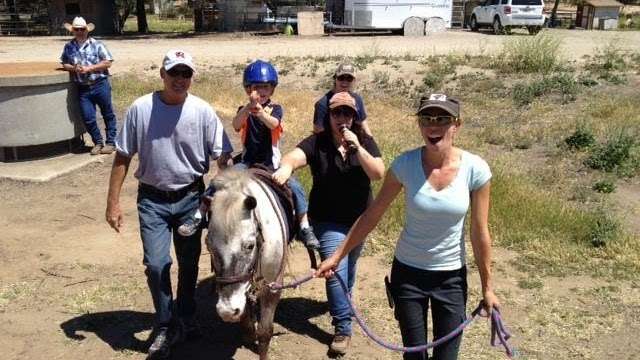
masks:
<svg viewBox="0 0 640 360"><path fill-rule="evenodd" d="M80 113L87 132L91 135L94 145L103 144L102 134L96 121L96 105L100 108L104 119L106 143L114 145L116 140L116 114L111 105L111 84L108 79L102 79L93 85L78 85Z"/></svg>

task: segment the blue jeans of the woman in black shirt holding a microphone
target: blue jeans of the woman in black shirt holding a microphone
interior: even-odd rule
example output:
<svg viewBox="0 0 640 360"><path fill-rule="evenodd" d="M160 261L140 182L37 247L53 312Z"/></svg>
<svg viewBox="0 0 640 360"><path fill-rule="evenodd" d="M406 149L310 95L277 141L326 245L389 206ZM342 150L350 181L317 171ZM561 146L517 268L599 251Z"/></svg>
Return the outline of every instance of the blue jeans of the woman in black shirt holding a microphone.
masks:
<svg viewBox="0 0 640 360"><path fill-rule="evenodd" d="M336 249L342 244L351 229L350 226L328 223L314 222L313 232L320 241L320 258L325 260L331 256ZM349 293L353 289L356 282L356 263L362 252L362 245L358 245L345 256L338 267L336 273L347 282ZM353 313L349 308L349 302L345 295L340 282L336 277L332 277L326 281L327 300L329 301L329 313L331 314L331 324L335 329L335 335L351 336L351 316Z"/></svg>

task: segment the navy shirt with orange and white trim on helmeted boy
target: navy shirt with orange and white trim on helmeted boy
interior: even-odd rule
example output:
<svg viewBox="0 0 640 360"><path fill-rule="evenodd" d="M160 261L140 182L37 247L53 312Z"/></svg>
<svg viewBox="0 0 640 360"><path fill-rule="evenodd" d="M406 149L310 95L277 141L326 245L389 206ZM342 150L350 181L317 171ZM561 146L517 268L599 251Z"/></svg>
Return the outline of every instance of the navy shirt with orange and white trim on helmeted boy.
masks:
<svg viewBox="0 0 640 360"><path fill-rule="evenodd" d="M262 164L277 169L282 158L280 140L283 132L284 109L271 100L263 104L262 108L267 114L278 119L278 126L269 129L257 116L249 115L247 121L240 127L240 138L244 145L242 162L247 165Z"/></svg>

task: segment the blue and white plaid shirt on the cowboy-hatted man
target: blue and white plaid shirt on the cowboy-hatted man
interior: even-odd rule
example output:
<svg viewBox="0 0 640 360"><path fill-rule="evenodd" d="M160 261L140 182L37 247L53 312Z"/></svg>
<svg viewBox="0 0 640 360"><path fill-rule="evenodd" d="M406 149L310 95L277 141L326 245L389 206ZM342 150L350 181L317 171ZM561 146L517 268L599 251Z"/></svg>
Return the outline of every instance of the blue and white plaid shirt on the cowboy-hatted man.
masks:
<svg viewBox="0 0 640 360"><path fill-rule="evenodd" d="M113 57L107 47L104 44L92 37L80 46L78 42L73 39L69 41L60 55L60 62L63 64L71 65L96 65L103 60L113 61ZM109 70L103 70L101 72L92 72L90 74L78 74L72 73L73 80L77 83L87 83L90 81L96 81L100 78L109 76Z"/></svg>

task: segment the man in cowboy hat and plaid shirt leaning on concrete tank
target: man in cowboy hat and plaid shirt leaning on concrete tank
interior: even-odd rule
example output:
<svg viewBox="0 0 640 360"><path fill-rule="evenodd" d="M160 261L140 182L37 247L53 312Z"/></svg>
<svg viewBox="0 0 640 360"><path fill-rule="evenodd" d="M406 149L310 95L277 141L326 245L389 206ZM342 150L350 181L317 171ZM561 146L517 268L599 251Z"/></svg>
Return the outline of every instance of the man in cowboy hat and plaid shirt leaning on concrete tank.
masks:
<svg viewBox="0 0 640 360"><path fill-rule="evenodd" d="M78 85L80 113L93 141L91 155L110 154L115 150L117 131L108 80L113 57L102 42L89 36L95 26L87 24L84 18L78 16L73 23L65 23L64 27L73 34L73 39L65 44L60 62ZM96 122L96 105L104 119L106 142Z"/></svg>

